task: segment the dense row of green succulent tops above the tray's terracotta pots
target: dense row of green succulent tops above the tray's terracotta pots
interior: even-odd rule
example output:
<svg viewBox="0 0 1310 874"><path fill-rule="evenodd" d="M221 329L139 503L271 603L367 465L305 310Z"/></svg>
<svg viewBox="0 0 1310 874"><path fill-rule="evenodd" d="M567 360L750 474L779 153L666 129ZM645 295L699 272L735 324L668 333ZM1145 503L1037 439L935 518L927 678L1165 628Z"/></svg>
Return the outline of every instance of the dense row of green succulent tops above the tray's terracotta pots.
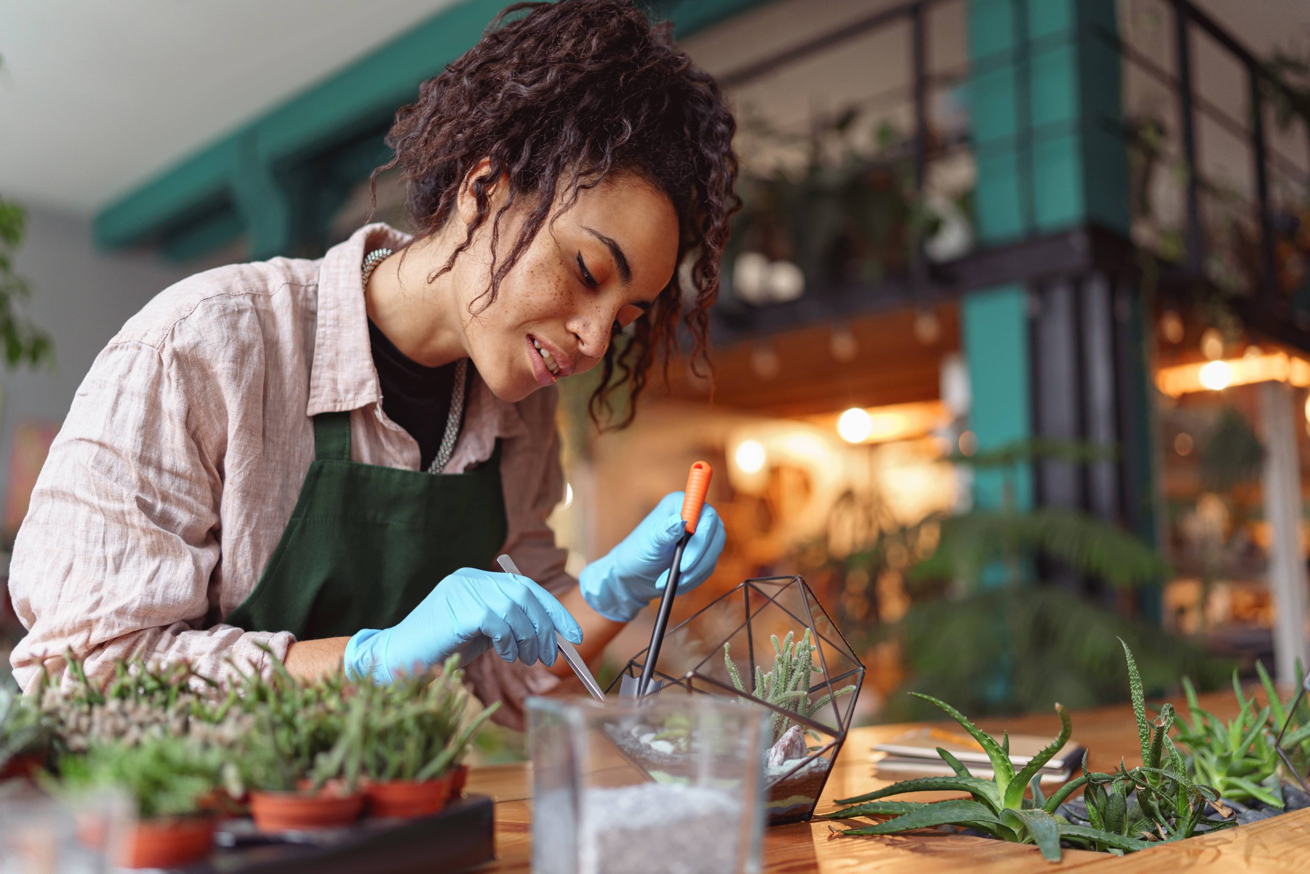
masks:
<svg viewBox="0 0 1310 874"><path fill-rule="evenodd" d="M147 748L139 753L145 764L168 756L203 764L211 755L229 763L221 776L234 795L250 788L290 791L305 784L313 790L329 781L351 789L365 774L426 780L458 764L498 706L464 718L469 693L457 659L441 672L383 687L355 684L342 671L297 679L266 651L271 676L231 664L227 687L185 663L155 668L119 662L114 679L100 688L69 654L71 687L59 689L47 679L34 698L58 742L60 778L111 781L119 761L136 761L138 753L127 751ZM194 761L173 742L191 748L186 755ZM207 772L183 768L179 773L199 777ZM159 806L176 814L176 793L185 794L190 786L143 777L130 789L143 810ZM156 801L155 794L165 798Z"/></svg>

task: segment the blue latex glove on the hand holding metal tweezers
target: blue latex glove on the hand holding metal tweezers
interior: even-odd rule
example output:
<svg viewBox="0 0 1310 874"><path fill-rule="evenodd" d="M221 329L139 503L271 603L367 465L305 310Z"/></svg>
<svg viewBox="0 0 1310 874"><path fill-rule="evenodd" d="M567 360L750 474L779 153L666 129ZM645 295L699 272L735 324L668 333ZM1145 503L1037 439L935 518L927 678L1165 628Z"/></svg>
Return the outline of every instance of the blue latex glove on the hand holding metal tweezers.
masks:
<svg viewBox="0 0 1310 874"><path fill-rule="evenodd" d="M460 654L487 649L506 662L555 663L555 632L582 643L582 628L555 596L527 577L462 567L436 584L397 625L364 629L346 643L346 672L390 683Z"/></svg>

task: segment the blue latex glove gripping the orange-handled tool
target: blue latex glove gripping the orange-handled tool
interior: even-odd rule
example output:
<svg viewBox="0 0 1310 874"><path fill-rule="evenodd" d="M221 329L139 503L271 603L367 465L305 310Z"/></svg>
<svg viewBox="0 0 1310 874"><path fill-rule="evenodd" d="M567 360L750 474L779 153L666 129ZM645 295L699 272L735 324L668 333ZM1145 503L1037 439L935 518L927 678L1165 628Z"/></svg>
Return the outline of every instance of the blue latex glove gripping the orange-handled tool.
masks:
<svg viewBox="0 0 1310 874"><path fill-rule="evenodd" d="M608 556L582 569L582 596L608 620L627 622L664 591L673 548L683 536L683 493L664 495L655 508ZM690 591L714 573L723 552L723 522L705 504L696 533L683 550L677 594Z"/></svg>

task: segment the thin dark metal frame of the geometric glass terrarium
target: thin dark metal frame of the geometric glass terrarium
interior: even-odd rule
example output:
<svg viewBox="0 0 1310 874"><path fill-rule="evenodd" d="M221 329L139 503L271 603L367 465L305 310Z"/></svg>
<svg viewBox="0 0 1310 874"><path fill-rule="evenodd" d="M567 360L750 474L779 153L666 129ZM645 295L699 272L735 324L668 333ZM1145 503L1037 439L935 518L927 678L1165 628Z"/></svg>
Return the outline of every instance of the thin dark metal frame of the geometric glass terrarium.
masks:
<svg viewBox="0 0 1310 874"><path fill-rule="evenodd" d="M778 590L770 595L769 592L760 588L761 584L773 584L777 586ZM804 608L804 616L796 616L795 612L789 609L778 600L779 596L793 586L799 587L802 592L800 603ZM752 603L752 592L758 599L758 604ZM773 811L769 812L770 826L806 822L814 815L815 806L819 803L819 797L823 794L823 788L827 785L828 777L832 774L832 768L837 761L837 755L841 752L841 747L846 742L846 735L850 730L852 719L854 718L855 701L859 697L859 688L865 679L865 664L859 660L859 656L855 655L854 649L846 641L846 637L841 633L841 629L838 629L837 625L832 621L832 617L828 616L828 612L819 601L817 595L815 595L814 590L810 588L810 584L806 583L804 578L800 577L799 574L789 574L779 577L755 577L743 580L738 586L732 587L731 590L728 590L719 598L714 599L701 609L696 611L696 613L693 613L692 616L686 617L676 626L669 629L665 633L665 638L672 637L677 634L680 630L688 628L689 625L692 625L692 622L696 622L701 616L706 615L709 611L719 609L720 604L730 601L734 598L743 599L741 607L743 607L743 616L745 618L740 624L738 624L736 628L734 628L731 632L723 634L719 638L717 647L714 647L703 659L701 659L694 667L684 672L681 676L673 676L671 674L660 671L659 668L655 668L652 672L652 679L656 680L656 683L651 684L651 689L647 692L647 696L667 693L671 691L672 687L679 687L684 689L688 694L710 694L717 697L748 698L752 704L772 710L773 713L781 714L787 719L790 719L791 722L802 726L804 730L812 730L831 738L831 740L828 740L823 746L810 750L808 755L806 755L804 759L802 759L795 767L779 774L776 774L772 778L765 780L765 794L769 795L770 790L774 786L779 786L789 778L804 770L817 759L825 757L828 760L828 767L823 772L823 778L819 781L817 788L814 789L812 793L814 797L810 798L810 803L804 810L787 808L777 814ZM832 634L820 633L819 622L816 622L814 611L811 611L810 608L811 603L814 603L823 613L827 629L831 629ZM718 680L713 676L707 676L706 674L702 672L702 670L706 667L706 664L711 662L711 659L722 660L723 643L730 642L734 637L736 637L740 632L744 630L747 636L747 650L751 664L748 676L753 677L756 674L757 659L755 653L756 636L752 629L752 621L770 605L776 607L777 609L781 609L783 613L786 613L793 620L799 622L802 629L810 629L811 634L814 636L814 647L815 651L819 654L817 664L823 671L823 677L819 683L808 685L808 688L806 689L806 694L810 696L814 694L815 692L827 691L828 696L831 696L831 701L824 706L832 708L833 715L836 717L834 725L824 725L810 717L804 717L799 713L778 706L770 701L764 701L761 698L757 698L753 694L751 694L749 689L743 693L735 687L723 683L722 680ZM840 639L840 643L834 642L832 639L832 636L836 636ZM823 643L820 643L820 641L823 641ZM842 671L841 674L833 676L828 667L828 658L825 655L827 647L832 647L834 651L841 653L844 656L848 656L854 663L855 667ZM624 667L620 675L614 677L614 680L609 684L609 688L605 691L607 696L618 694L620 687L625 676L633 679L641 676L642 670L646 667L645 656L648 651L650 647L647 646L627 660L627 664ZM842 696L842 697L849 697L849 701L846 702L845 708L842 708L840 705L840 697L837 696L837 688L838 684L842 683L844 680L852 680L852 679L854 681L854 692L850 696ZM829 752L831 757L828 756ZM808 795L808 793L806 794Z"/></svg>

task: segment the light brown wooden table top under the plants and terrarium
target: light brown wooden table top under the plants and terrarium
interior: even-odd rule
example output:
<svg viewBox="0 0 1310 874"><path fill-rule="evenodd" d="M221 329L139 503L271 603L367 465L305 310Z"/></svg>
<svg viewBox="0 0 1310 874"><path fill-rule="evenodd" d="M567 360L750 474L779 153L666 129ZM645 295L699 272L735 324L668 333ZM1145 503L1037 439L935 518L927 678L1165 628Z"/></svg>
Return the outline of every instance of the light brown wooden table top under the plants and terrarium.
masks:
<svg viewBox="0 0 1310 874"><path fill-rule="evenodd" d="M1233 693L1201 696L1203 704L1225 718L1235 714ZM1186 710L1186 706L1183 708ZM1039 734L1055 736L1060 721L1051 714L980 719L981 727L1000 735ZM954 723L951 723L954 725ZM834 810L833 798L846 798L884 786L891 781L872 776L869 753L872 744L891 739L909 726L853 729L846 738L832 776L824 786L816 812ZM1137 723L1132 708L1117 705L1073 714L1073 738L1087 747L1089 765L1111 770L1120 756L1140 764ZM486 871L529 871L532 867L532 776L529 765L487 765L473 768L469 790L496 801L496 861ZM931 801L947 793L917 793L908 799ZM1028 874L1078 869L1079 874L1127 874L1131 871L1310 871L1310 808L1241 826L1213 836L1165 844L1124 857L1085 850L1064 850L1056 865L1041 858L1036 846L1006 844L988 837L917 832L876 837L833 837L825 820L777 826L765 829L764 870L774 874L821 871L824 874L920 874L922 871L967 870Z"/></svg>

